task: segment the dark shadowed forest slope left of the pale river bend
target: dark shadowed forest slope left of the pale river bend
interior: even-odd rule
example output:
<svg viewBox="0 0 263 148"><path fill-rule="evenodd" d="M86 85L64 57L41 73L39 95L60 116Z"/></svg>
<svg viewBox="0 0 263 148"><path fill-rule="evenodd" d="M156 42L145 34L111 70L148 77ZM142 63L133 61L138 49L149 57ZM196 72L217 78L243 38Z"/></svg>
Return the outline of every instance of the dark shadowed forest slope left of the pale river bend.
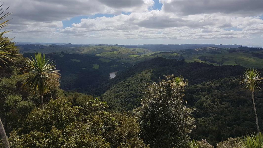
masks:
<svg viewBox="0 0 263 148"><path fill-rule="evenodd" d="M32 53L23 54L31 58ZM119 71L130 66L114 61L104 62L94 55L69 54L69 53L50 53L47 54L55 61L57 69L60 70L60 88L85 92L96 88L98 84L109 79L109 73ZM99 65L94 68L94 65ZM88 75L88 76L87 76Z"/></svg>

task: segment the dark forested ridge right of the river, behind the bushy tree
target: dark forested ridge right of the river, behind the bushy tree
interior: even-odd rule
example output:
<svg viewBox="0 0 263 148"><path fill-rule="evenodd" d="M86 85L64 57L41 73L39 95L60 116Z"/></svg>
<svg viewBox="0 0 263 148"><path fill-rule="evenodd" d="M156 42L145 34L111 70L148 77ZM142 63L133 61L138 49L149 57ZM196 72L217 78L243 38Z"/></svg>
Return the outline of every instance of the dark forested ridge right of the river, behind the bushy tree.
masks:
<svg viewBox="0 0 263 148"><path fill-rule="evenodd" d="M101 98L113 110L132 110L140 106L140 99L144 97L141 90L149 83L160 81L164 74L183 75L189 81L184 99L188 101L186 106L195 109L193 116L197 126L190 135L215 145L228 137L241 136L256 129L251 94L239 84L244 69L241 66L214 66L157 58L139 63L120 73L115 81L103 84L107 91ZM256 94L257 114L262 127L263 92L256 91Z"/></svg>

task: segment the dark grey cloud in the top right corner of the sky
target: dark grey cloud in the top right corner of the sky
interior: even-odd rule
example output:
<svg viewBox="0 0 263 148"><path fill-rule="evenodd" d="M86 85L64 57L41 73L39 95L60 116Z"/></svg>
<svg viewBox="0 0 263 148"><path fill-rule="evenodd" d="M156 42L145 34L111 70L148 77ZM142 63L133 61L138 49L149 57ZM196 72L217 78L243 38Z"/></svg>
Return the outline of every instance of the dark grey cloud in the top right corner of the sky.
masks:
<svg viewBox="0 0 263 148"><path fill-rule="evenodd" d="M172 1L160 0L165 12L173 12L180 15L225 13L243 16L260 16L263 14L263 2L261 0L198 0L198 1Z"/></svg>

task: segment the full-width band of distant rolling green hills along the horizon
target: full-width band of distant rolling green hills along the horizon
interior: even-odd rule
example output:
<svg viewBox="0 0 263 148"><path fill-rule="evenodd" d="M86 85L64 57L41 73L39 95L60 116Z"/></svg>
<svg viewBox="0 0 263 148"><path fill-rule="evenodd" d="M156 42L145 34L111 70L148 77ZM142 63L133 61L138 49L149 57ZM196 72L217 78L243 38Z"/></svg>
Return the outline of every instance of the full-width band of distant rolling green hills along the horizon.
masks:
<svg viewBox="0 0 263 148"><path fill-rule="evenodd" d="M205 45L205 44L204 44ZM201 45L200 45L201 46ZM219 48L218 47L200 47L190 46L190 49L181 47L179 50L174 50L173 45L148 45L142 47L154 48L155 52L144 48L130 48L136 46L118 46L118 45L22 45L22 53L78 53L96 55L104 61L114 60L115 62L137 64L139 62L150 60L156 57L166 59L185 60L186 62L201 62L213 65L240 65L243 67L263 68L263 49L262 48ZM129 48L128 48L129 47ZM162 49L161 49L162 47ZM168 48L169 47L169 48ZM192 49L194 47L200 47ZM222 46L224 47L224 46ZM235 47L235 46L234 46ZM150 49L151 49L150 48ZM159 49L159 51L156 51ZM166 52L161 52L161 51Z"/></svg>

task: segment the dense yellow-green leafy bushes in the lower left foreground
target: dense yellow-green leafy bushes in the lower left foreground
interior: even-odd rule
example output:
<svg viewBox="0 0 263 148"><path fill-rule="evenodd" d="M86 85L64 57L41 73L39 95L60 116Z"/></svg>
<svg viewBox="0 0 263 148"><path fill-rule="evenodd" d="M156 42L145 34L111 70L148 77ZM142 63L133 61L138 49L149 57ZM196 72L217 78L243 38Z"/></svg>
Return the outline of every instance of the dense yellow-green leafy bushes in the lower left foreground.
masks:
<svg viewBox="0 0 263 148"><path fill-rule="evenodd" d="M33 110L24 126L11 132L11 147L148 148L138 137L137 120L128 114L109 112L107 107L97 98L78 106L67 99L51 99L44 109Z"/></svg>

